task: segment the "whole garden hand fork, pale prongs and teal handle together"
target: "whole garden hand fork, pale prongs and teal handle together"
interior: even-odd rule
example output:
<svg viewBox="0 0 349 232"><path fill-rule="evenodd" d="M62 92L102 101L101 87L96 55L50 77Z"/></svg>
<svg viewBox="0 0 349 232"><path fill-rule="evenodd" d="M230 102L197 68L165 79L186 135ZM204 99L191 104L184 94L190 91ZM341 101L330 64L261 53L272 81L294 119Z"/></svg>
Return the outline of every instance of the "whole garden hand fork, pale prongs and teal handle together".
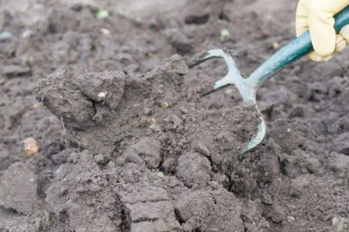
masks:
<svg viewBox="0 0 349 232"><path fill-rule="evenodd" d="M346 26L347 24L349 24L349 6L334 15L334 29L336 33L338 34L341 28ZM281 71L281 69L285 68L285 66L292 64L297 59L304 57L312 50L313 44L311 43L311 36L309 31L306 31L306 33L302 34L302 36L293 39L279 51L275 52L274 55L264 61L246 79L242 78L239 70L237 69L237 66L235 65L234 60L228 54L228 52L224 52L224 50L221 49L209 50L199 57L195 57L189 63L189 67L198 65L203 61L206 61L207 59L223 58L229 68L228 74L225 75L225 77L221 80L215 82L214 86L212 86L212 89L210 89L209 92L202 94L202 96L207 96L208 94L216 92L219 89L223 89L230 85L235 85L235 87L237 87L237 90L239 90L243 101L251 101L260 113L255 100L255 95L258 87L260 87L260 85L262 85L262 83L266 80L272 78L272 76L274 76L278 71ZM260 116L260 119L262 121L260 122L260 124L258 124L257 134L244 147L242 152L248 152L252 150L254 147L262 143L262 140L265 138L266 125L265 121L262 118L262 115Z"/></svg>

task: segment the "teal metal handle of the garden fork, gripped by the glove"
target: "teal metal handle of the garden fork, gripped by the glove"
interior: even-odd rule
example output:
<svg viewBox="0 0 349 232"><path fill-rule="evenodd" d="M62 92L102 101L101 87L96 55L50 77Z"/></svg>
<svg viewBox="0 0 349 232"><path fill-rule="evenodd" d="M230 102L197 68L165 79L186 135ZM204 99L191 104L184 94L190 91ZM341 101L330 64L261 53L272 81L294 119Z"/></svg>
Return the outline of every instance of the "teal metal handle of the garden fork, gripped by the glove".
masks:
<svg viewBox="0 0 349 232"><path fill-rule="evenodd" d="M334 15L334 29L338 34L342 27L349 24L349 6ZM246 81L251 87L257 88L265 80L269 80L278 71L285 68L288 64L297 61L313 50L309 31L285 45L272 57L267 59L259 68L257 68Z"/></svg>

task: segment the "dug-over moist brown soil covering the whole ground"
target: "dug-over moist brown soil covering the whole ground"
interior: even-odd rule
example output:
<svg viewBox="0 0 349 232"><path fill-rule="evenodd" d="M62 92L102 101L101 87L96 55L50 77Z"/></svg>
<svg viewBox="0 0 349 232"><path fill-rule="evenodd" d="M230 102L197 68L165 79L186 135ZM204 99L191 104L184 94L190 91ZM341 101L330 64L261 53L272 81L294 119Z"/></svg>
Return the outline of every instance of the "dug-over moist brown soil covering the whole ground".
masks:
<svg viewBox="0 0 349 232"><path fill-rule="evenodd" d="M1 232L346 231L348 53L260 87L268 134L247 154L257 110L233 87L200 98L222 60L191 67L222 48L248 75L294 38L296 1L188 1L144 20L36 4L35 22L0 15Z"/></svg>

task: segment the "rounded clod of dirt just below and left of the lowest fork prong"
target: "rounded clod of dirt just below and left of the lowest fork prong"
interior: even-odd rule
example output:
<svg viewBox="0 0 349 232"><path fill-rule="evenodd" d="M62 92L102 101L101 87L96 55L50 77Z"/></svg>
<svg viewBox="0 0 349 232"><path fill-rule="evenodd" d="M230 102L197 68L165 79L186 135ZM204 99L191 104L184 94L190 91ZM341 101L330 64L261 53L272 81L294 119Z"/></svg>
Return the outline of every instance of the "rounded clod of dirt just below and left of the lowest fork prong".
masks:
<svg viewBox="0 0 349 232"><path fill-rule="evenodd" d="M211 177L209 160L195 152L183 154L178 159L176 175L188 187L205 186Z"/></svg>

